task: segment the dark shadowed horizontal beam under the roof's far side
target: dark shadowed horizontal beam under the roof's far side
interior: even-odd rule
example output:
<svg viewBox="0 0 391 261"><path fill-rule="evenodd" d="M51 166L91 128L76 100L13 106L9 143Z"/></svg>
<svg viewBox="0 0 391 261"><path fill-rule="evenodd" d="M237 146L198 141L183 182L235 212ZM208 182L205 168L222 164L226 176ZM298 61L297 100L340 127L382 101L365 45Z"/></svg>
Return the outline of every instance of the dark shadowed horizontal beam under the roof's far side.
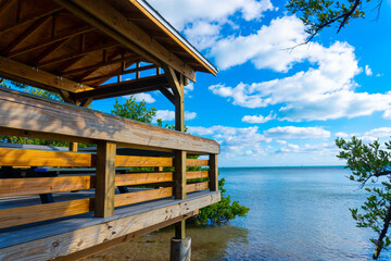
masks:
<svg viewBox="0 0 391 261"><path fill-rule="evenodd" d="M110 85L102 85L94 90L75 94L76 99L93 98L94 100L106 99L125 95L157 90L165 86L167 80L164 75L150 76L141 79L126 80Z"/></svg>

